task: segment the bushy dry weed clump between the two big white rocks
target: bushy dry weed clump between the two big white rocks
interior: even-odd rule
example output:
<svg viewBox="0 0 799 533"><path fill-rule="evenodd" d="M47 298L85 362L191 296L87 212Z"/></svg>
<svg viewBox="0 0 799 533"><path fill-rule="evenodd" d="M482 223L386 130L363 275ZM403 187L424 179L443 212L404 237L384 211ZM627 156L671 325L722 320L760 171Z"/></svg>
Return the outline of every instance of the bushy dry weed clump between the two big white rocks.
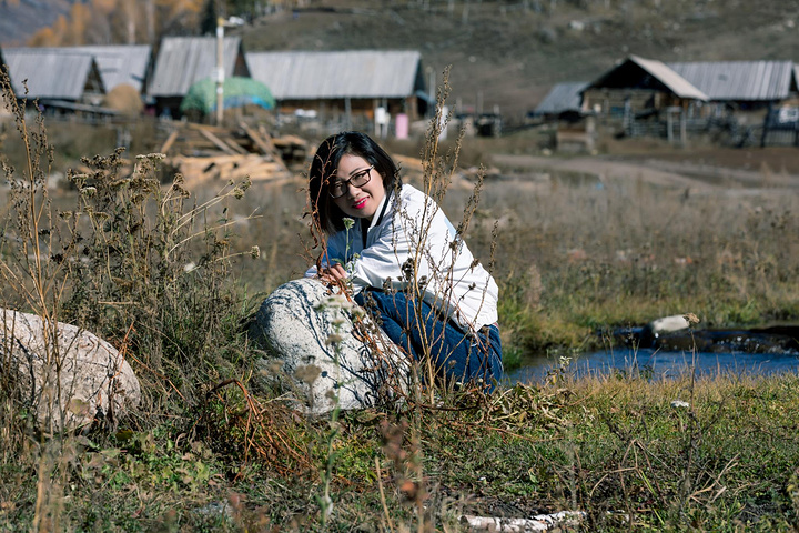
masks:
<svg viewBox="0 0 799 533"><path fill-rule="evenodd" d="M229 366L220 341L235 335L242 302L224 204L242 198L249 182L227 183L198 204L180 174L162 188L161 159L139 155L130 171L117 150L84 159L89 173L68 173L79 204L60 213L70 237L64 255L77 255L68 270L81 281L63 305L79 323L125 339L140 373L166 384L158 394L192 404L198 382L220 379Z"/></svg>

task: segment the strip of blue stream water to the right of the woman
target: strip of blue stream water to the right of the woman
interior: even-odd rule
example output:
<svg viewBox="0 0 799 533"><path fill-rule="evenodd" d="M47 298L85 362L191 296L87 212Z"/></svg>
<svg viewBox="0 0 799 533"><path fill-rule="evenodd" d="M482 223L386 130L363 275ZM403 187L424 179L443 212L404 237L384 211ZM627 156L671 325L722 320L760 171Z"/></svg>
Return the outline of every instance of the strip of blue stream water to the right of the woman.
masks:
<svg viewBox="0 0 799 533"><path fill-rule="evenodd" d="M557 356L533 358L524 361L520 369L509 372L507 379L510 384L540 383L559 364ZM574 355L567 372L576 376L629 374L633 372L657 380L684 375L692 366L696 366L697 375L719 373L769 375L799 371L799 355L796 353L691 353L621 349Z"/></svg>

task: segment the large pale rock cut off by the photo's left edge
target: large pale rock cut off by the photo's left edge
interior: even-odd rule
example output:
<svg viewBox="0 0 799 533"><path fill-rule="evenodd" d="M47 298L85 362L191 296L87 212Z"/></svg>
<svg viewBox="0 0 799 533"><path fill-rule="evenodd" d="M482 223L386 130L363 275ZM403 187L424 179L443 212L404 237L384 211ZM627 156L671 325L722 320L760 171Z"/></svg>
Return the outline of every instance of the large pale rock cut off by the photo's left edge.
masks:
<svg viewBox="0 0 799 533"><path fill-rule="evenodd" d="M0 368L18 385L38 428L53 434L119 420L139 404L130 364L99 336L63 322L0 309Z"/></svg>

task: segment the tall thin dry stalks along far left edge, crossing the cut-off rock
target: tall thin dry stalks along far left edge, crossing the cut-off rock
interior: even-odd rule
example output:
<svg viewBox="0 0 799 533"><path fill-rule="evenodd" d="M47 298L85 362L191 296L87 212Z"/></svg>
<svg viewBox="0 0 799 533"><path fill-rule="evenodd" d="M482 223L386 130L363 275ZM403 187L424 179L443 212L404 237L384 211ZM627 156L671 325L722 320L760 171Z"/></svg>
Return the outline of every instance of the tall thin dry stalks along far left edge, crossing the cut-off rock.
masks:
<svg viewBox="0 0 799 533"><path fill-rule="evenodd" d="M3 174L9 183L2 240L0 241L0 279L3 283L2 350L0 353L0 446L10 452L3 456L13 461L31 479L36 480L36 505L33 531L60 529L63 511L65 473L58 462L64 456L69 443L54 439L45 441L44 434L58 434L63 428L65 405L60 405L61 374L63 363L58 342L59 300L65 288L63 269L50 261L50 251L58 247L59 233L53 231L52 205L48 194L48 177L52 164L52 149L47 142L44 122L38 115L31 129L26 121L26 101L18 101L6 70L0 72L0 100L13 117L17 132L26 149L24 165L17 173L3 158ZM13 363L16 342L7 338L7 309L32 311L42 319L44 372L38 401L49 406L43 413L43 426L37 428L30 414L31 405L21 400L21 385ZM50 371L50 370L54 370ZM52 409L54 406L54 409ZM40 430L40 431L37 431ZM37 439L37 433L39 439ZM37 442L38 441L38 442ZM20 452L27 452L20 454Z"/></svg>

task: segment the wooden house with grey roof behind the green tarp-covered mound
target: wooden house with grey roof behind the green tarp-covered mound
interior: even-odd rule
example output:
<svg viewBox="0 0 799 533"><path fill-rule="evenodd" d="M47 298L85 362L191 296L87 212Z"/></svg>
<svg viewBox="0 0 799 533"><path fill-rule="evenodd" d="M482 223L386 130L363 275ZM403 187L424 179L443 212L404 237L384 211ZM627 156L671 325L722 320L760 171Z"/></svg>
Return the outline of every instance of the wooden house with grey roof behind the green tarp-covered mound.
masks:
<svg viewBox="0 0 799 533"><path fill-rule="evenodd" d="M215 37L166 37L155 59L146 95L158 115L176 118L189 88L204 78L216 79ZM250 77L241 39L225 37L222 46L224 77Z"/></svg>

